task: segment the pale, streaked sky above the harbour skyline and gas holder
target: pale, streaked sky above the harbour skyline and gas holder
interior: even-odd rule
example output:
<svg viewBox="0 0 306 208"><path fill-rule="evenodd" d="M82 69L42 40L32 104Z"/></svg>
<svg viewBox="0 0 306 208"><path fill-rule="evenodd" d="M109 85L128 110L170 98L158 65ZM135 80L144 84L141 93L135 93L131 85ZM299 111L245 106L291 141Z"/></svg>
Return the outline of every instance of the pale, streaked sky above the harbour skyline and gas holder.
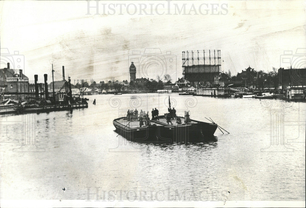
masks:
<svg viewBox="0 0 306 208"><path fill-rule="evenodd" d="M114 3L125 5L113 12ZM140 12L141 4L147 14ZM180 13L184 4L186 12ZM136 78L170 74L175 81L183 76L187 50L221 50L221 70L232 75L248 66L266 72L286 68L284 56L298 66L306 60L304 52L290 55L306 48L305 1L98 1L98 6L96 14L87 1L1 1L0 68L10 61L29 80L38 74L42 82L44 73L52 79L52 63L54 80L61 80L64 65L74 84L129 80L131 61Z"/></svg>

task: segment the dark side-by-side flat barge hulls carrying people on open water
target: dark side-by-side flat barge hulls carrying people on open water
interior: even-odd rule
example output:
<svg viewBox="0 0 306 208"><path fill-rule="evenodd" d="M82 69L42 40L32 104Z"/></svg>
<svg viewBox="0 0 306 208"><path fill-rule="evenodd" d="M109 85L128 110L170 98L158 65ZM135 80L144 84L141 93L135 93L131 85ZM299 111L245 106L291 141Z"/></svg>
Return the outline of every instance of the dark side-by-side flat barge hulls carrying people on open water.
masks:
<svg viewBox="0 0 306 208"><path fill-rule="evenodd" d="M126 117L114 119L116 132L133 142L140 143L204 143L216 140L214 133L217 124L191 120L184 124L184 117L180 117L183 124L173 125L166 122L164 116L157 120L150 120L151 125L140 127L139 121L128 121Z"/></svg>

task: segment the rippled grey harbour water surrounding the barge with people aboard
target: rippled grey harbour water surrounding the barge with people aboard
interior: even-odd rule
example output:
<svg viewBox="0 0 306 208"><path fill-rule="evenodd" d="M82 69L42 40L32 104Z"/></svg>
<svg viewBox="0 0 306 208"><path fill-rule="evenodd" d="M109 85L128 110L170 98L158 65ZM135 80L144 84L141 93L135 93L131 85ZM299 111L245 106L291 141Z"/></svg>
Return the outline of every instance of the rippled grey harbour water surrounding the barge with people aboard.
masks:
<svg viewBox="0 0 306 208"><path fill-rule="evenodd" d="M177 114L211 117L230 134L217 129L216 142L197 145L129 143L113 119L129 108L166 112L168 95L91 95L88 109L34 114L42 152L14 152L22 116L2 116L1 199L86 200L89 190L95 200L95 187L100 200L305 199L305 103L170 95ZM286 147L270 142L275 112L284 113ZM272 134L282 126L273 118Z"/></svg>

